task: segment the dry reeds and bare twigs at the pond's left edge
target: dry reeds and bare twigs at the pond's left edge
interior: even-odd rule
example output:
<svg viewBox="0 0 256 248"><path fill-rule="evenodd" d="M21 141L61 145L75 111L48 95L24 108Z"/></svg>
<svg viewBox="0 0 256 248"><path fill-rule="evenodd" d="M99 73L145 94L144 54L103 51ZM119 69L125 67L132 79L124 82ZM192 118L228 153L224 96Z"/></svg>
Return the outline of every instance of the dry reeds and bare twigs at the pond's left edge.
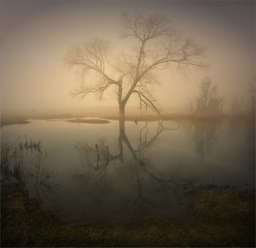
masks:
<svg viewBox="0 0 256 248"><path fill-rule="evenodd" d="M7 141L1 141L1 184L14 183L17 184L20 189L29 192L28 185L34 185L36 190L36 199L48 198L49 194L56 192L58 189L57 183L52 183L51 179L56 177L55 169L51 169L45 155L41 149L41 141L30 142L25 137L25 141L22 142L19 137L19 143L10 143ZM30 161L33 164L32 168L27 168L24 164L24 152L28 155L29 152L36 152L34 161Z"/></svg>

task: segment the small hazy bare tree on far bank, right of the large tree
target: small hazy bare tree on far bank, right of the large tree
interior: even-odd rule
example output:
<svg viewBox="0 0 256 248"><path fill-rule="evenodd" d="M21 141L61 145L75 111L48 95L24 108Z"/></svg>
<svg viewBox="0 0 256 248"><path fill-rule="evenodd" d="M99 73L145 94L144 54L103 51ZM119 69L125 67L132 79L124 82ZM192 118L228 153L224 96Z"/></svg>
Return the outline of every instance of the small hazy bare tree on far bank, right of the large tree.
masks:
<svg viewBox="0 0 256 248"><path fill-rule="evenodd" d="M198 85L198 93L188 97L183 109L194 117L218 116L222 113L225 97L219 96L218 84L213 83L211 76L205 76Z"/></svg>

